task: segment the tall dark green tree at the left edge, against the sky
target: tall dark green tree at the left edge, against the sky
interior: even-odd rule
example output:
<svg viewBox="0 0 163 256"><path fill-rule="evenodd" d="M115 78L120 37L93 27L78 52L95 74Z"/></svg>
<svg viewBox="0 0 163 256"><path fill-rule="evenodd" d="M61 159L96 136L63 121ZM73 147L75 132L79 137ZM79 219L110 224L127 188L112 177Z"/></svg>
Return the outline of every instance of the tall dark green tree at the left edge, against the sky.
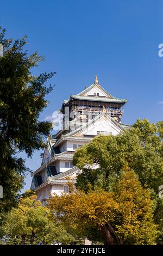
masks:
<svg viewBox="0 0 163 256"><path fill-rule="evenodd" d="M13 42L5 39L5 29L0 27L0 44L4 54L0 57L0 184L4 189L1 212L15 204L15 197L23 186L24 175L29 171L16 153L25 151L30 157L34 150L45 147L52 124L39 121L47 106L46 95L52 86L44 84L55 74L32 75L44 58L37 52L28 55L24 50L27 36Z"/></svg>

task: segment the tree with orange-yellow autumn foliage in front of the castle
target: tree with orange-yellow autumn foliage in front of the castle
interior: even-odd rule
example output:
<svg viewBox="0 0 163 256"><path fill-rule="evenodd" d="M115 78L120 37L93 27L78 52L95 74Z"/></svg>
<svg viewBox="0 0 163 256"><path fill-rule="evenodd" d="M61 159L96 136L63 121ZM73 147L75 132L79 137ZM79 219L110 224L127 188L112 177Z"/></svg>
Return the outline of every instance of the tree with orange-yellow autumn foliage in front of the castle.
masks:
<svg viewBox="0 0 163 256"><path fill-rule="evenodd" d="M134 171L121 172L114 191L96 187L51 196L48 208L73 234L90 237L98 230L105 245L153 245L158 231L153 221L154 201ZM100 233L100 234L99 234Z"/></svg>

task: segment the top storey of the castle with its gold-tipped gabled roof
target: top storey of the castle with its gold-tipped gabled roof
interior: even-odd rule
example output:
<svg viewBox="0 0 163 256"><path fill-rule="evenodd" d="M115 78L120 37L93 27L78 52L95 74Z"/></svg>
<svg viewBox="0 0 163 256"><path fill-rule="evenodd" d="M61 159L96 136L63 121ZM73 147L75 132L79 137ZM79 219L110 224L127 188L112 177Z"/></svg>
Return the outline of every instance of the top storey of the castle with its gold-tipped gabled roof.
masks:
<svg viewBox="0 0 163 256"><path fill-rule="evenodd" d="M106 113L111 118L121 123L123 106L126 102L126 99L119 99L106 92L98 83L96 75L95 81L91 86L85 88L79 94L71 94L70 99L64 100L60 110L65 114L65 107L69 108L71 113L70 121L73 121L71 123L76 124L77 128L79 125L81 126L81 123L85 124L95 118L103 111L103 108L106 109Z"/></svg>

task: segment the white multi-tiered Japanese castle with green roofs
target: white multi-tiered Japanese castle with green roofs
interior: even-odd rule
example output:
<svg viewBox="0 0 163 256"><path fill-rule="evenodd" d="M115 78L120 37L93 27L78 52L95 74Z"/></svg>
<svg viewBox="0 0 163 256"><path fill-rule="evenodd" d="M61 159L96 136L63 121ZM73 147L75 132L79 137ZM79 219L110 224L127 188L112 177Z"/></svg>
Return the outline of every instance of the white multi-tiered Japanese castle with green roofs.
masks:
<svg viewBox="0 0 163 256"><path fill-rule="evenodd" d="M41 167L32 173L31 189L46 204L49 193L67 192L67 178L74 182L81 172L72 165L74 151L98 135L117 135L130 125L122 124L126 99L112 96L95 81L83 92L64 100L59 113L62 126L57 134L49 136ZM57 124L56 124L57 125Z"/></svg>

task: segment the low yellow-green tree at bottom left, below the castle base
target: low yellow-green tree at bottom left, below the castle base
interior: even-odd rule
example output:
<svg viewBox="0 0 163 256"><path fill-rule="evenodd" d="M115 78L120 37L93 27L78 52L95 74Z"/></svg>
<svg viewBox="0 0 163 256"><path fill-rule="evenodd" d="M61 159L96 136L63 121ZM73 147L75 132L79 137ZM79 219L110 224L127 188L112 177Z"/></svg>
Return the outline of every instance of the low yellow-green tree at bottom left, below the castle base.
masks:
<svg viewBox="0 0 163 256"><path fill-rule="evenodd" d="M29 194L29 191L26 194ZM9 237L7 243L11 243L15 237L17 237L16 242L21 245L72 242L73 237L67 233L63 225L50 220L49 210L36 198L32 195L19 199L17 208L12 208L8 213L3 225L4 235Z"/></svg>

